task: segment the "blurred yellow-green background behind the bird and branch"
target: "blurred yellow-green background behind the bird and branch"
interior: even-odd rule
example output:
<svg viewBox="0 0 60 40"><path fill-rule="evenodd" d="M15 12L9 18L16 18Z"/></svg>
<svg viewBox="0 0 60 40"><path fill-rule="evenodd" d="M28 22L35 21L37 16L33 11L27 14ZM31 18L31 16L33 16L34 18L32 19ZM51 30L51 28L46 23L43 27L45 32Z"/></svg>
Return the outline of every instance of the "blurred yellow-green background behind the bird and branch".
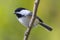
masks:
<svg viewBox="0 0 60 40"><path fill-rule="evenodd" d="M0 0L0 40L23 40L26 27L18 22L14 10L24 7L32 11L33 3L34 0ZM41 0L37 15L53 31L38 25L32 29L29 40L60 40L60 0Z"/></svg>

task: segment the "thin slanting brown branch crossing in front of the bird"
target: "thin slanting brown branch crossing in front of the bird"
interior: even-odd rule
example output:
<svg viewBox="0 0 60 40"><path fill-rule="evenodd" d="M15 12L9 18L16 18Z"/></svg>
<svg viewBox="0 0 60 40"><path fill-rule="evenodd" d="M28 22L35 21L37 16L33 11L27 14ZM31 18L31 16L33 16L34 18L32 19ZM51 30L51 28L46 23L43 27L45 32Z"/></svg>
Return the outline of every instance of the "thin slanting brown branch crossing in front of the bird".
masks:
<svg viewBox="0 0 60 40"><path fill-rule="evenodd" d="M36 18L36 13L37 13L37 8L38 8L38 5L39 5L39 2L40 2L40 0L35 0L35 2L34 2L32 18L31 18L31 21L29 23L29 28L27 28L27 30L25 32L24 40L28 40L28 37L29 37L29 34L31 32L33 23L34 23L35 18Z"/></svg>

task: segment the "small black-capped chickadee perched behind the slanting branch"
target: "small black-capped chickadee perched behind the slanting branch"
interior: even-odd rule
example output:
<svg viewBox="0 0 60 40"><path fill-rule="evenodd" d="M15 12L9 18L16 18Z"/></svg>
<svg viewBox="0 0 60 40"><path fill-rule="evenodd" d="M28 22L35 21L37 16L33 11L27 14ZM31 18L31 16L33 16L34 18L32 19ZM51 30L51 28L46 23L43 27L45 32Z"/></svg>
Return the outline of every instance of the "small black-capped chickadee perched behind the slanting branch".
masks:
<svg viewBox="0 0 60 40"><path fill-rule="evenodd" d="M23 24L26 27L29 27L29 22L32 17L32 12L25 9L25 8L17 8L15 10L15 14L17 16L17 19L21 24ZM46 25L38 16L36 16L35 22L33 26L35 27L36 25L40 24L44 28L46 28L49 31L52 31L52 28L48 25Z"/></svg>

